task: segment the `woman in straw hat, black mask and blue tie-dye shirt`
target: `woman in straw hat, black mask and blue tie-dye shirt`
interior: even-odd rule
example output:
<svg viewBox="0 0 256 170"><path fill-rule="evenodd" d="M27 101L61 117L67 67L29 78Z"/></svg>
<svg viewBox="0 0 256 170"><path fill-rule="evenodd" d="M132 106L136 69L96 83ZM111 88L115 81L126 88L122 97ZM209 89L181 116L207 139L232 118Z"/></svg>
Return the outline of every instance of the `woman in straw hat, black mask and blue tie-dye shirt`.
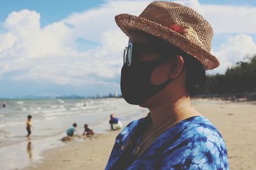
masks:
<svg viewBox="0 0 256 170"><path fill-rule="evenodd" d="M118 134L106 169L229 169L220 132L192 105L205 70L220 65L210 53L211 25L177 3L150 3L139 17L116 24L129 36L122 95L148 108Z"/></svg>

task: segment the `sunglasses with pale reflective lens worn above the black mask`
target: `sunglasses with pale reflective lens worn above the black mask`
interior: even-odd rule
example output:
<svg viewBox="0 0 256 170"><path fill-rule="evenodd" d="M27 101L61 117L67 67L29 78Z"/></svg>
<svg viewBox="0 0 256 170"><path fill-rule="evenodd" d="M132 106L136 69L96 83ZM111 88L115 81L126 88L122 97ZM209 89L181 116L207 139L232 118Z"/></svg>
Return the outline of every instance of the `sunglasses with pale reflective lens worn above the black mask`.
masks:
<svg viewBox="0 0 256 170"><path fill-rule="evenodd" d="M132 60L138 60L132 59L132 55L137 55L140 51L147 53L159 53L162 56L161 59L165 60L169 59L170 53L174 52L171 50L172 48L168 48L168 46L152 46L129 42L128 46L126 46L124 49L124 65L131 66Z"/></svg>

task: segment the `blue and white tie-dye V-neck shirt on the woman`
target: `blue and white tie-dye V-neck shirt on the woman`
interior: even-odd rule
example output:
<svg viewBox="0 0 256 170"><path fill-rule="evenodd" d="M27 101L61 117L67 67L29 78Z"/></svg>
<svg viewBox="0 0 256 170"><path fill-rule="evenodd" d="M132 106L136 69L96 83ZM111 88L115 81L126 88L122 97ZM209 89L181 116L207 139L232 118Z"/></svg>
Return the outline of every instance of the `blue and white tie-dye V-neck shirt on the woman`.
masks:
<svg viewBox="0 0 256 170"><path fill-rule="evenodd" d="M229 169L220 132L199 116L174 125L134 158L132 150L141 142L148 117L131 122L118 134L106 169Z"/></svg>

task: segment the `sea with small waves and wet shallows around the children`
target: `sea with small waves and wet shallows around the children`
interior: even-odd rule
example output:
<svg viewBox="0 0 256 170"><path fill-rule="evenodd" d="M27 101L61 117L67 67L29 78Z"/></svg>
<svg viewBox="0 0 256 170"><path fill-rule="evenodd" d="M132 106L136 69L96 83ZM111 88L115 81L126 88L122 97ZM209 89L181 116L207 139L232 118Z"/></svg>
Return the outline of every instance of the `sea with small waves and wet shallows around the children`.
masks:
<svg viewBox="0 0 256 170"><path fill-rule="evenodd" d="M84 124L104 134L110 129L110 114L126 125L148 113L122 98L0 99L0 104L0 169L22 169L42 161L42 152L66 145L60 139L74 123L80 134ZM28 115L33 117L30 139L25 137Z"/></svg>

